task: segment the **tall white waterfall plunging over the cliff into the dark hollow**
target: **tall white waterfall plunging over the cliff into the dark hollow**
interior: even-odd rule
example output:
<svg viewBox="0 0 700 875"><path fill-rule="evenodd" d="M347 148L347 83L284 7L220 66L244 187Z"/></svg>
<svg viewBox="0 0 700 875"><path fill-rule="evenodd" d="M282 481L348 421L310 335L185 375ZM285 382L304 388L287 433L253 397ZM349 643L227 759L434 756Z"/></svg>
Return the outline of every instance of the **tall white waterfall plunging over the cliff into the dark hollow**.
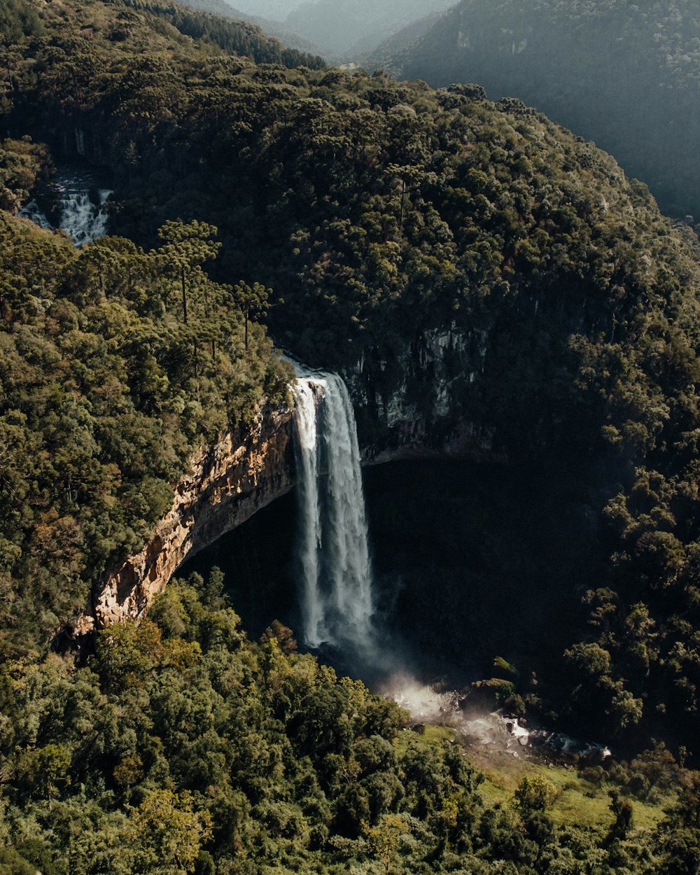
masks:
<svg viewBox="0 0 700 875"><path fill-rule="evenodd" d="M374 604L353 405L338 374L300 376L294 394L304 638L367 655Z"/></svg>

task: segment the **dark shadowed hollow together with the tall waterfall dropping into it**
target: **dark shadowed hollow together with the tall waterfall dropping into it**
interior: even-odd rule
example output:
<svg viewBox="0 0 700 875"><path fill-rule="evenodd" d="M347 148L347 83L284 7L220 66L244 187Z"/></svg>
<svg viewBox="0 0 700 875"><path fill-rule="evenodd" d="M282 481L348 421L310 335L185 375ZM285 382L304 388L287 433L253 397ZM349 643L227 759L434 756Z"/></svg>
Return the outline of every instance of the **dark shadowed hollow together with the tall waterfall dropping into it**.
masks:
<svg viewBox="0 0 700 875"><path fill-rule="evenodd" d="M460 689L496 655L522 673L556 666L557 618L579 610L595 561L566 479L550 490L542 471L426 458L360 481L341 387L332 374L297 383L297 488L178 576L220 566L248 634L280 620L375 689L400 672Z"/></svg>

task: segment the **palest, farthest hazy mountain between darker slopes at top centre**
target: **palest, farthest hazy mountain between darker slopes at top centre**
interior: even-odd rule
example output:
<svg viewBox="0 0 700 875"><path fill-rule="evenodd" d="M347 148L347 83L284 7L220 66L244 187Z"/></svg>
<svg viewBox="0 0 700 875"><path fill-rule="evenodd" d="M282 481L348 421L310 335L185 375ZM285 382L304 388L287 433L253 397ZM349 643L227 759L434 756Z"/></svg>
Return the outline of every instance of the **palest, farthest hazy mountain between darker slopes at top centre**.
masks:
<svg viewBox="0 0 700 875"><path fill-rule="evenodd" d="M290 12L286 24L332 52L356 57L452 0L317 0Z"/></svg>

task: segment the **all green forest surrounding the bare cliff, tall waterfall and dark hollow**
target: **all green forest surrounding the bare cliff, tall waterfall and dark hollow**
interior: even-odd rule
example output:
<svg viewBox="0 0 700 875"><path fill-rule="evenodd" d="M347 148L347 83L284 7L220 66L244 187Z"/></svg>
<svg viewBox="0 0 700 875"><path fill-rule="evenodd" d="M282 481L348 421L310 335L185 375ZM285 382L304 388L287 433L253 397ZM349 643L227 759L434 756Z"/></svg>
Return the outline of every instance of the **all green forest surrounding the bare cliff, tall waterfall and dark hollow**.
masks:
<svg viewBox="0 0 700 875"><path fill-rule="evenodd" d="M4 0L0 27L0 870L697 872L690 228L478 86L327 69L158 0ZM15 216L77 159L116 190L114 235L80 250ZM248 641L220 575L172 584L80 668L47 652L193 451L284 399L265 311L305 360L363 362L380 443L407 350L461 335L444 427L567 470L605 570L556 676L497 687L648 748L592 767L598 828L556 823L546 782L490 805L458 745L403 732L288 630ZM658 788L678 801L638 833L630 799Z"/></svg>

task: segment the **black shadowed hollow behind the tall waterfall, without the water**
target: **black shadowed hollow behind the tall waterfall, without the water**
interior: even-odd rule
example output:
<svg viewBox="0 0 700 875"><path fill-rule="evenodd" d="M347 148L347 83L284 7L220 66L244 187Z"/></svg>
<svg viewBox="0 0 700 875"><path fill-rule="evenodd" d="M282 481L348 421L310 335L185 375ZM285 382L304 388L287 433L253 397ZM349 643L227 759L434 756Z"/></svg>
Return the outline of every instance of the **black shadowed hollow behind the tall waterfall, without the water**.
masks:
<svg viewBox="0 0 700 875"><path fill-rule="evenodd" d="M566 471L545 478L450 459L366 468L381 652L362 666L321 655L368 683L404 669L423 683L459 688L490 676L497 655L521 674L556 676L572 627L583 620L582 592L602 568L596 517L567 482ZM290 493L178 576L218 565L251 637L272 620L298 633L296 537Z"/></svg>

